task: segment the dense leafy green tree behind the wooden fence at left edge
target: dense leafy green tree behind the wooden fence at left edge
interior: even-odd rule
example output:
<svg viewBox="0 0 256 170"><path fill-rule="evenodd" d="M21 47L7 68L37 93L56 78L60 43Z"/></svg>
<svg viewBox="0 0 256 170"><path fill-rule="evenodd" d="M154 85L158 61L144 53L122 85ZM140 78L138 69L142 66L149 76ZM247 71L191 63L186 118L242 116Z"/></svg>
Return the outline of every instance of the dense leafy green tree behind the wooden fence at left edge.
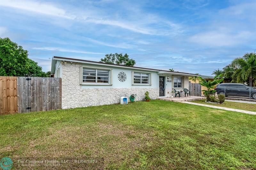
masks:
<svg viewBox="0 0 256 170"><path fill-rule="evenodd" d="M51 72L28 58L28 51L9 38L0 37L0 76L50 77Z"/></svg>

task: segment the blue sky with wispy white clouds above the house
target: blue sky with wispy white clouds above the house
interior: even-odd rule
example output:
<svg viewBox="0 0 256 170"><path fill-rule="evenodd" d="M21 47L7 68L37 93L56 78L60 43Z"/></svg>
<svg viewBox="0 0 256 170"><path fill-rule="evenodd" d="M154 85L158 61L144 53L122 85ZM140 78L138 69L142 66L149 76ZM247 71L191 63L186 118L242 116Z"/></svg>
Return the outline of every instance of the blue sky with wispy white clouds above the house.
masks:
<svg viewBox="0 0 256 170"><path fill-rule="evenodd" d="M0 1L0 36L44 71L52 56L211 75L256 49L256 1Z"/></svg>

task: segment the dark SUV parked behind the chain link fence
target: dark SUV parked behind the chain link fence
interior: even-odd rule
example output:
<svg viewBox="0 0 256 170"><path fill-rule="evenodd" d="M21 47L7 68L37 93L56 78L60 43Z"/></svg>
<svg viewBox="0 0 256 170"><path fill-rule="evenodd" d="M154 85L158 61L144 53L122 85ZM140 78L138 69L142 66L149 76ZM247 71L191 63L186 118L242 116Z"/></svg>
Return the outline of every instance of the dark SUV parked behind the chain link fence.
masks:
<svg viewBox="0 0 256 170"><path fill-rule="evenodd" d="M256 88L239 83L222 83L214 88L217 94L233 97L251 97L256 100Z"/></svg>

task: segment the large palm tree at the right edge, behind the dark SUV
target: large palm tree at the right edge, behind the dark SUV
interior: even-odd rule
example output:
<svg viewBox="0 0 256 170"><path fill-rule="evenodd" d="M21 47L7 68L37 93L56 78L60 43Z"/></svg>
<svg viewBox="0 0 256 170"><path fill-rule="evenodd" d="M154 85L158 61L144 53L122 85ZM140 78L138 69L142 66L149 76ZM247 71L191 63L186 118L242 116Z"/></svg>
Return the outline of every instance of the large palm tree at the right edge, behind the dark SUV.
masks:
<svg viewBox="0 0 256 170"><path fill-rule="evenodd" d="M255 53L250 53L250 54L246 53L243 57L238 57L235 60L233 60L232 64L235 64L238 68L235 71L237 75L236 76L234 75L236 79L240 79L243 81L248 81L249 79L249 85L251 87L252 87L252 84L256 85L256 54Z"/></svg>

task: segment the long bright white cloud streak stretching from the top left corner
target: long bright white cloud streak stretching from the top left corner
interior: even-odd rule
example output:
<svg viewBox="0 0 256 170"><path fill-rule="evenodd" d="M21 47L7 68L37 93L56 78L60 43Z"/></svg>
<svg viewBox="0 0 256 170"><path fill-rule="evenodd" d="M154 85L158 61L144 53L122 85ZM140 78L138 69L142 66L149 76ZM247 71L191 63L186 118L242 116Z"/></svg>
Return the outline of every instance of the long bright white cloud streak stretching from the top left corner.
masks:
<svg viewBox="0 0 256 170"><path fill-rule="evenodd" d="M170 21L165 21L155 15L146 16L145 13L140 13L140 18L138 16L134 16L131 14L132 18L129 20L120 20L120 19L108 19L109 17L113 17L111 15L107 16L99 16L98 13L101 12L101 9L96 9L96 11L87 10L87 14L84 11L80 11L80 9L72 9L71 12L68 10L56 7L54 4L43 3L38 1L1 1L0 6L16 8L24 11L35 12L44 15L50 15L55 17L61 17L66 19L72 19L80 22L94 23L94 24L102 24L108 26L116 26L126 30L130 30L135 33L142 33L148 35L175 35L176 32L179 31L181 27L177 24L174 24ZM100 11L97 11L100 10ZM78 13L76 14L75 11ZM89 14L88 14L89 13ZM28 13L31 15L30 13ZM89 17L90 16L90 17ZM163 25L164 27L168 27L168 31L166 29L154 29L150 28L148 25Z"/></svg>

